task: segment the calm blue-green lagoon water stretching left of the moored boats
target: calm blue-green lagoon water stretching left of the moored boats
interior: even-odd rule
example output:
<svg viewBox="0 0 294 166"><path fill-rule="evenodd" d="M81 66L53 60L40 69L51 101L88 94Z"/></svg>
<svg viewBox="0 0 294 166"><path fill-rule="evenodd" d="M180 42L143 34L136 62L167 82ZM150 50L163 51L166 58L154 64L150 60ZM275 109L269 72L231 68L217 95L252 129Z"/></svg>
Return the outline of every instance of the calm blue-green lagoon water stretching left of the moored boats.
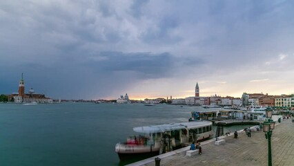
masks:
<svg viewBox="0 0 294 166"><path fill-rule="evenodd" d="M135 135L133 127L187 122L191 111L199 110L207 109L168 104L0 104L0 163L124 165L115 144ZM224 132L242 128L226 127Z"/></svg>

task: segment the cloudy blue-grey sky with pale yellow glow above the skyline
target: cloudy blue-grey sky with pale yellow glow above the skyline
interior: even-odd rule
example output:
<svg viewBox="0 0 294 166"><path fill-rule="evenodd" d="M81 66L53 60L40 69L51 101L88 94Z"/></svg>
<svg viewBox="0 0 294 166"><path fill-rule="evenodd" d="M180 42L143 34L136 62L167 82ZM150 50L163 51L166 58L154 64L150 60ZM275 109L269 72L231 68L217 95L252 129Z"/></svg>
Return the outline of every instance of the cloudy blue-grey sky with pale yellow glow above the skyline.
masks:
<svg viewBox="0 0 294 166"><path fill-rule="evenodd" d="M294 93L293 1L0 1L0 93Z"/></svg>

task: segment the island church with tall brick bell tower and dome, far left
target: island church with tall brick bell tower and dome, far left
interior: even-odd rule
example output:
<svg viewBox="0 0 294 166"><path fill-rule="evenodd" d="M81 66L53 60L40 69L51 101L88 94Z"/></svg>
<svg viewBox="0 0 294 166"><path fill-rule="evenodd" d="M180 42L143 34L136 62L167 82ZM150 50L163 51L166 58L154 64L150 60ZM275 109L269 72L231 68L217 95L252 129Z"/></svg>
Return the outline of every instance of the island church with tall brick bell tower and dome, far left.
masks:
<svg viewBox="0 0 294 166"><path fill-rule="evenodd" d="M47 98L44 94L35 93L34 89L30 89L28 93L25 93L23 74L21 74L21 80L19 81L19 93L12 93L9 98L14 98L15 103L53 103L52 98Z"/></svg>

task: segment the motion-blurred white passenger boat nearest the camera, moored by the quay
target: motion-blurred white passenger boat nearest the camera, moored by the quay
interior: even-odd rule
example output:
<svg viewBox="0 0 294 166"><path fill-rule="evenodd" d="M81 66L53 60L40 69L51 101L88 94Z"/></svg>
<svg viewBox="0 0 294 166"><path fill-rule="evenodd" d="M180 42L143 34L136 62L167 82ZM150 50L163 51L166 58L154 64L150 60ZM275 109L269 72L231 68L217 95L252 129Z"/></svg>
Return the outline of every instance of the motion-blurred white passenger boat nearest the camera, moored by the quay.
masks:
<svg viewBox="0 0 294 166"><path fill-rule="evenodd" d="M126 142L115 145L121 160L135 156L156 156L213 136L212 122L209 121L135 127L133 130L143 136L129 137Z"/></svg>

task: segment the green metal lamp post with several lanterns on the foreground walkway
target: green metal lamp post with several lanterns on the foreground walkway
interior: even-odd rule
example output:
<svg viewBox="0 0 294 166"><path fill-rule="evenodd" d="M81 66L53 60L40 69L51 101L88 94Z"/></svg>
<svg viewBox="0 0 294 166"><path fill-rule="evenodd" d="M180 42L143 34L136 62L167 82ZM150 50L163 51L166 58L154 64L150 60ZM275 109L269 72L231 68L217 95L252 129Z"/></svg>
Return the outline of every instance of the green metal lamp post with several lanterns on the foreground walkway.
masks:
<svg viewBox="0 0 294 166"><path fill-rule="evenodd" d="M268 140L268 166L272 166L271 162L271 135L273 133L273 129L275 129L275 122L272 120L273 109L266 108L266 118L267 121L263 123L263 130L266 135L266 139Z"/></svg>

